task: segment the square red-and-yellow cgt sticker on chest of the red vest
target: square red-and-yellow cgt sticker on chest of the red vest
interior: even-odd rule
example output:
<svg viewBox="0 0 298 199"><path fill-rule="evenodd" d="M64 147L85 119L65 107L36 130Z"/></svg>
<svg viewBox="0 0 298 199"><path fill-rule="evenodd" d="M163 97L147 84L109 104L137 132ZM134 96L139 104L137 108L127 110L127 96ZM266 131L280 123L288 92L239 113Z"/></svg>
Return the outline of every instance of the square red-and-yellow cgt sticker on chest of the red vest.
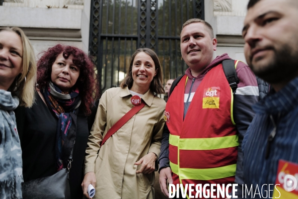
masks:
<svg viewBox="0 0 298 199"><path fill-rule="evenodd" d="M203 108L220 108L220 87L204 89Z"/></svg>

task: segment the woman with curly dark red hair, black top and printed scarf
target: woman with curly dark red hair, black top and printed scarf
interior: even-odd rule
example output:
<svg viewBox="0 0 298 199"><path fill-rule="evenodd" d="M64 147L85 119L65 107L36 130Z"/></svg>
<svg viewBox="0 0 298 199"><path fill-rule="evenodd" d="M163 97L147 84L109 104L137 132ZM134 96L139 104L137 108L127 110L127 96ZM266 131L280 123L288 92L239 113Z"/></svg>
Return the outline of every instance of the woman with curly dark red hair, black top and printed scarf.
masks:
<svg viewBox="0 0 298 199"><path fill-rule="evenodd" d="M37 63L37 99L31 108L15 111L25 184L67 168L73 152L71 198L82 198L87 115L99 93L94 69L76 47L58 44L43 52Z"/></svg>

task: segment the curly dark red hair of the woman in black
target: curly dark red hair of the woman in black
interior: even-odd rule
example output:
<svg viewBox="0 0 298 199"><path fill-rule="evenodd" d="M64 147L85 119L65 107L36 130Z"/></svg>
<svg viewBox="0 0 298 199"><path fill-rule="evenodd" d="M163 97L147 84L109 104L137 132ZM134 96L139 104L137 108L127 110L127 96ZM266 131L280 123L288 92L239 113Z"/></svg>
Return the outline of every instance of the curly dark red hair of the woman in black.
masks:
<svg viewBox="0 0 298 199"><path fill-rule="evenodd" d="M99 86L95 75L94 64L82 50L74 46L57 44L47 51L44 51L37 62L38 87L42 88L51 81L52 66L61 53L63 53L65 59L73 55L73 63L79 68L79 77L74 86L79 90L79 96L82 100L81 106L84 113L89 115L94 100L97 100L99 97Z"/></svg>

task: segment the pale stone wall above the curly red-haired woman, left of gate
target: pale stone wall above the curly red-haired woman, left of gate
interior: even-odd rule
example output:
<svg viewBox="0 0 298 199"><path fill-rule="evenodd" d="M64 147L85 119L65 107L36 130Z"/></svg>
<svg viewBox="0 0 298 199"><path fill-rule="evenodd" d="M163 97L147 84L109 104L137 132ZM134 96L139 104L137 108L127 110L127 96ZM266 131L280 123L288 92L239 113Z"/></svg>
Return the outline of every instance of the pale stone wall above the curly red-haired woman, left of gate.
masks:
<svg viewBox="0 0 298 199"><path fill-rule="evenodd" d="M18 26L35 54L58 43L88 51L90 0L4 0L0 26Z"/></svg>

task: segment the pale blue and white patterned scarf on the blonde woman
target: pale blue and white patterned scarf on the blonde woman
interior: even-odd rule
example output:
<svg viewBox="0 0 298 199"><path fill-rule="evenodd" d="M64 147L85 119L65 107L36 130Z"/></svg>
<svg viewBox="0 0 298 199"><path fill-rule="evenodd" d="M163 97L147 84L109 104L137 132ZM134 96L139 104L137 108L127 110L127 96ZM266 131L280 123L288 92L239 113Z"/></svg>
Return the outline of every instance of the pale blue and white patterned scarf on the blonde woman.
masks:
<svg viewBox="0 0 298 199"><path fill-rule="evenodd" d="M22 198L22 150L13 110L18 98L0 90L0 199Z"/></svg>

